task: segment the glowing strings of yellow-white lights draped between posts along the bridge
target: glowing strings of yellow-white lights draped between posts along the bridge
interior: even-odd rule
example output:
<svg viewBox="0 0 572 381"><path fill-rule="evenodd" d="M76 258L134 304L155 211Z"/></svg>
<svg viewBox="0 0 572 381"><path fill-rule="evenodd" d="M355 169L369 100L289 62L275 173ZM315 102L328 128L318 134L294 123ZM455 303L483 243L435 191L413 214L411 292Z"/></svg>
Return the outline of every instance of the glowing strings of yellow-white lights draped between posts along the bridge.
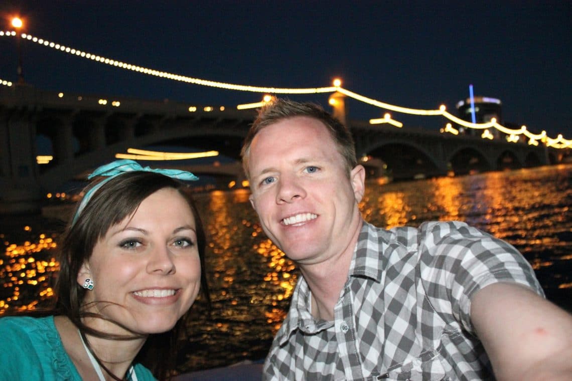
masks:
<svg viewBox="0 0 572 381"><path fill-rule="evenodd" d="M15 31L0 31L0 37L15 37L17 33ZM457 125L470 128L470 129L481 129L484 130L483 134L481 135L482 138L492 139L493 135L490 133L491 128L501 131L502 133L508 134L507 141L509 142L518 142L518 135L525 135L525 137L529 138L529 145L538 145L538 140L545 143L547 147L554 147L557 149L563 148L570 148L572 147L572 140L565 139L562 134L559 134L557 138L549 138L546 136L546 131L542 131L541 134L533 134L530 133L526 129L526 126L522 126L520 129L509 129L505 126L496 122L495 118L492 118L490 122L487 123L472 123L464 121L452 115L446 111L445 105L440 105L439 109L437 110L423 110L423 109L411 109L409 107L402 107L396 105L390 105L389 103L384 103L378 101L376 99L364 97L364 95L360 95L357 93L353 93L353 91L349 91L341 87L341 81L336 79L333 83L334 86L330 87L309 87L303 89L295 89L295 88L281 88L281 87L263 87L263 86L251 86L251 85L237 85L234 83L227 83L227 82L217 82L217 81L208 81L206 79L200 78L193 78L187 77L186 75L180 74L173 74L167 73L165 71L150 69L148 67L143 67L139 65L134 65L132 63L125 63L122 61L118 61L116 59L103 57L101 55L88 53L79 49L74 49L69 46L61 45L59 43L47 41L46 39L37 38L30 34L22 33L20 34L22 39L27 41L31 41L34 43L38 43L41 46L50 47L52 49L62 51L67 54L77 55L78 57L91 59L96 62L104 63L105 65L119 67L121 69L136 71L137 73L153 75L159 78L166 78L171 79L173 81L180 81L186 82L193 85L200 85L200 86L209 86L209 87L217 87L219 89L227 89L227 90L236 90L236 91L250 91L254 93L271 93L271 94L319 94L319 93L333 93L337 91L347 97L356 99L357 101L368 103L369 105L379 107L380 109L386 109L395 111L397 113L403 114L411 114L411 115L423 115L423 116L442 116L448 119L451 122L456 123ZM0 84L4 86L12 86L13 83L9 81L4 81L0 79ZM247 109L250 107L260 107L264 105L264 103L268 102L266 99L263 102L256 102L256 103L249 103L247 105L239 105L238 109ZM396 127L402 127L403 123L396 121L395 119L391 119L390 114L385 114L383 118L380 119L371 119L370 123L390 123ZM455 130L450 123L447 124L445 129L442 129L442 132L452 133L455 134L453 131L456 131L456 134L459 133L458 130ZM456 135L455 134L455 135Z"/></svg>

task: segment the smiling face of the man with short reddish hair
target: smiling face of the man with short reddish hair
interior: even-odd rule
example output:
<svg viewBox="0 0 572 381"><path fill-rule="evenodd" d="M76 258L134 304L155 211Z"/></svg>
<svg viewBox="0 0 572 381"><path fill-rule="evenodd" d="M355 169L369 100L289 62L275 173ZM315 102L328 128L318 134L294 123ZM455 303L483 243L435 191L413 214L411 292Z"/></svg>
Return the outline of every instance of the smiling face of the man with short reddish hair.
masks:
<svg viewBox="0 0 572 381"><path fill-rule="evenodd" d="M327 127L293 117L264 127L249 155L251 202L264 232L299 264L353 251L364 169L347 174Z"/></svg>

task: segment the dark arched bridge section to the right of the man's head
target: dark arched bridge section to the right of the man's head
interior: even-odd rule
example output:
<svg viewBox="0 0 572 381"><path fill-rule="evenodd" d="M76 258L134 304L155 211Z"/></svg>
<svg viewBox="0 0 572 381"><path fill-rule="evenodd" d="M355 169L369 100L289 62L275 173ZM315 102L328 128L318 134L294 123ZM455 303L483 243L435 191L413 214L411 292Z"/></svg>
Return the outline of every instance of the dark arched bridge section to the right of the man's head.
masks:
<svg viewBox="0 0 572 381"><path fill-rule="evenodd" d="M358 121L349 125L358 156L381 159L394 179L518 169L562 160L556 149L509 143L503 137L491 141L415 127L397 129Z"/></svg>

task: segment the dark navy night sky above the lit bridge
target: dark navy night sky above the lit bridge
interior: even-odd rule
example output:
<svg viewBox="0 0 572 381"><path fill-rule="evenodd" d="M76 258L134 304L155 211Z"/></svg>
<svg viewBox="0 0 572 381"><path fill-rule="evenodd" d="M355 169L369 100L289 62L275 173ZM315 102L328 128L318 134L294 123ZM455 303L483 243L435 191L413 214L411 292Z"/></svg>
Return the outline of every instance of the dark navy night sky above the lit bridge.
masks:
<svg viewBox="0 0 572 381"><path fill-rule="evenodd" d="M188 77L268 87L345 89L419 109L499 98L503 121L572 138L570 1L11 1L26 32L61 45ZM23 42L25 81L43 90L200 105L260 101L117 69ZM0 37L0 78L16 82L15 38ZM327 106L326 95L289 95ZM349 118L386 111L350 100ZM442 117L392 113L439 129Z"/></svg>

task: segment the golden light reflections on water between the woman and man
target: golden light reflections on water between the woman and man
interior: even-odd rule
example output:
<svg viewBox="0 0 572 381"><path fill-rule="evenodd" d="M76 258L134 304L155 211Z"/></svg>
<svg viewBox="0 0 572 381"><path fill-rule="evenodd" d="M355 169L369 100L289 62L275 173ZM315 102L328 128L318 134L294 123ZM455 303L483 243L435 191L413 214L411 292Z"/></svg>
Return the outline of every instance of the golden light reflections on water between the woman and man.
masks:
<svg viewBox="0 0 572 381"><path fill-rule="evenodd" d="M241 219L237 223L236 205L249 208L249 195L248 190L240 189L210 192L208 196L208 215L204 220L212 255L209 254L207 264L208 271L212 272L212 290L217 294L211 296L215 301L236 306L234 312L226 312L228 318L246 319L248 316L241 314L253 314L252 308L258 308L274 334L287 313L286 306L280 302L288 302L297 275L293 262L265 238L255 218ZM249 241L251 248L245 248L244 244ZM251 253L259 255L252 256ZM266 270L259 273L264 275L257 280L253 276L261 265ZM260 282L259 286L252 286L257 282ZM245 283L249 288L246 293L241 288ZM219 322L217 328L225 330L225 324Z"/></svg>

